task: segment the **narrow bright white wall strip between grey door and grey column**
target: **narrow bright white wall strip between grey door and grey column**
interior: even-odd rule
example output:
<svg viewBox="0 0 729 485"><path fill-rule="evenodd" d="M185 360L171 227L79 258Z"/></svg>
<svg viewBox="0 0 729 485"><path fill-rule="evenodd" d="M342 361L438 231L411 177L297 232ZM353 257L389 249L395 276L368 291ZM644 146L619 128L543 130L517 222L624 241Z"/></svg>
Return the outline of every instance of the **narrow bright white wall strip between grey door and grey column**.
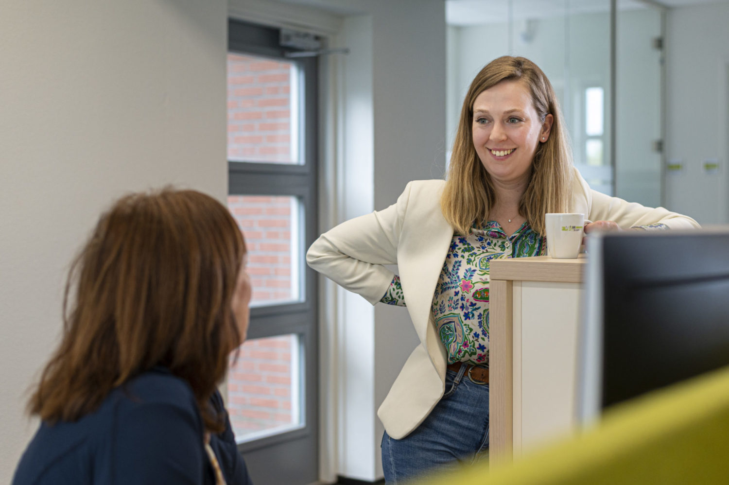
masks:
<svg viewBox="0 0 729 485"><path fill-rule="evenodd" d="M321 221L322 230L375 209L373 15L344 18L339 43L350 53L340 59L343 96L340 98L342 156L335 221ZM375 309L364 298L338 288L340 308L335 327L340 335L336 352L338 373L338 457L335 475L372 481L377 476L375 446ZM327 302L333 303L333 302ZM324 328L320 328L324 331ZM324 383L322 383L324 384ZM324 384L325 385L325 384Z"/></svg>

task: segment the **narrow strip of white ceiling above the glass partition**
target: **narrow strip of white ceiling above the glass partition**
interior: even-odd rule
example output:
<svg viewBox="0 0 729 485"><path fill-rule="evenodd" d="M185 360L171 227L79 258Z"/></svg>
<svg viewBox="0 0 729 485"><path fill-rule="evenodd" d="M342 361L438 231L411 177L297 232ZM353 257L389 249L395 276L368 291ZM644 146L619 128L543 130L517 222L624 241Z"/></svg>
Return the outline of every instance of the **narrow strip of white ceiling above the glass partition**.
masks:
<svg viewBox="0 0 729 485"><path fill-rule="evenodd" d="M445 20L451 26L504 23L509 18L512 2L518 4L515 20L563 16L566 8L571 14L608 12L610 6L610 0L445 0ZM729 0L653 0L650 3L677 8L724 2ZM620 10L650 8L641 0L617 0L617 5Z"/></svg>

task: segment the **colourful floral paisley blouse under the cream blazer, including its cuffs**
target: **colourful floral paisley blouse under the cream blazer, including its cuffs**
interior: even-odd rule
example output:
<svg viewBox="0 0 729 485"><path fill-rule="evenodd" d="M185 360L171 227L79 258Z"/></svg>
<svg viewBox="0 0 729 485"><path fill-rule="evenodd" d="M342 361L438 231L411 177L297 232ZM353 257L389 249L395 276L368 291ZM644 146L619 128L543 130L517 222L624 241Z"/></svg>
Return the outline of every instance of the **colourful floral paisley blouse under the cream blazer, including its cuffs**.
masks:
<svg viewBox="0 0 729 485"><path fill-rule="evenodd" d="M664 224L640 229L667 229ZM489 263L494 259L547 254L545 238L524 222L507 236L496 221L472 228L468 236L453 235L443 270L435 285L432 312L435 326L448 353L448 364L468 362L488 366ZM399 276L380 300L405 306Z"/></svg>

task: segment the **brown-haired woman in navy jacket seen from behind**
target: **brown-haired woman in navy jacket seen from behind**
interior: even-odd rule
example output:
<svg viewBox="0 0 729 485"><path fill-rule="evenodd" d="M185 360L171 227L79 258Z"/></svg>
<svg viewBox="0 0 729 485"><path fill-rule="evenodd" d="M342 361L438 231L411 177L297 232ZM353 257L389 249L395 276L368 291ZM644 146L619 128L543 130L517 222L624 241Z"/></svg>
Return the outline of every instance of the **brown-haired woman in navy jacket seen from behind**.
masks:
<svg viewBox="0 0 729 485"><path fill-rule="evenodd" d="M225 206L194 190L103 214L69 272L13 484L250 484L217 391L246 338L245 256Z"/></svg>

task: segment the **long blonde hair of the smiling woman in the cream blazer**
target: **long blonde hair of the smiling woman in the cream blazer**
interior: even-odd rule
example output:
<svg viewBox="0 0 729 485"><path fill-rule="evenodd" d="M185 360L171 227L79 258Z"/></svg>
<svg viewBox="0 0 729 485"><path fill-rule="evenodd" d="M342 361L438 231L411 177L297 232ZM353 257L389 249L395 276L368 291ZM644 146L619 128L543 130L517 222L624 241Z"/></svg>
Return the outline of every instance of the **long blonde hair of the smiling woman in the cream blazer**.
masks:
<svg viewBox="0 0 729 485"><path fill-rule="evenodd" d="M466 235L474 222L486 220L496 203L491 176L473 145L473 104L480 93L499 82L520 80L531 93L540 123L551 114L550 136L539 143L531 163L531 178L519 202L519 214L531 228L545 234L545 214L566 212L572 183L572 152L557 96L542 69L523 57L504 55L488 63L471 82L461 108L453 155L440 207L457 233Z"/></svg>

